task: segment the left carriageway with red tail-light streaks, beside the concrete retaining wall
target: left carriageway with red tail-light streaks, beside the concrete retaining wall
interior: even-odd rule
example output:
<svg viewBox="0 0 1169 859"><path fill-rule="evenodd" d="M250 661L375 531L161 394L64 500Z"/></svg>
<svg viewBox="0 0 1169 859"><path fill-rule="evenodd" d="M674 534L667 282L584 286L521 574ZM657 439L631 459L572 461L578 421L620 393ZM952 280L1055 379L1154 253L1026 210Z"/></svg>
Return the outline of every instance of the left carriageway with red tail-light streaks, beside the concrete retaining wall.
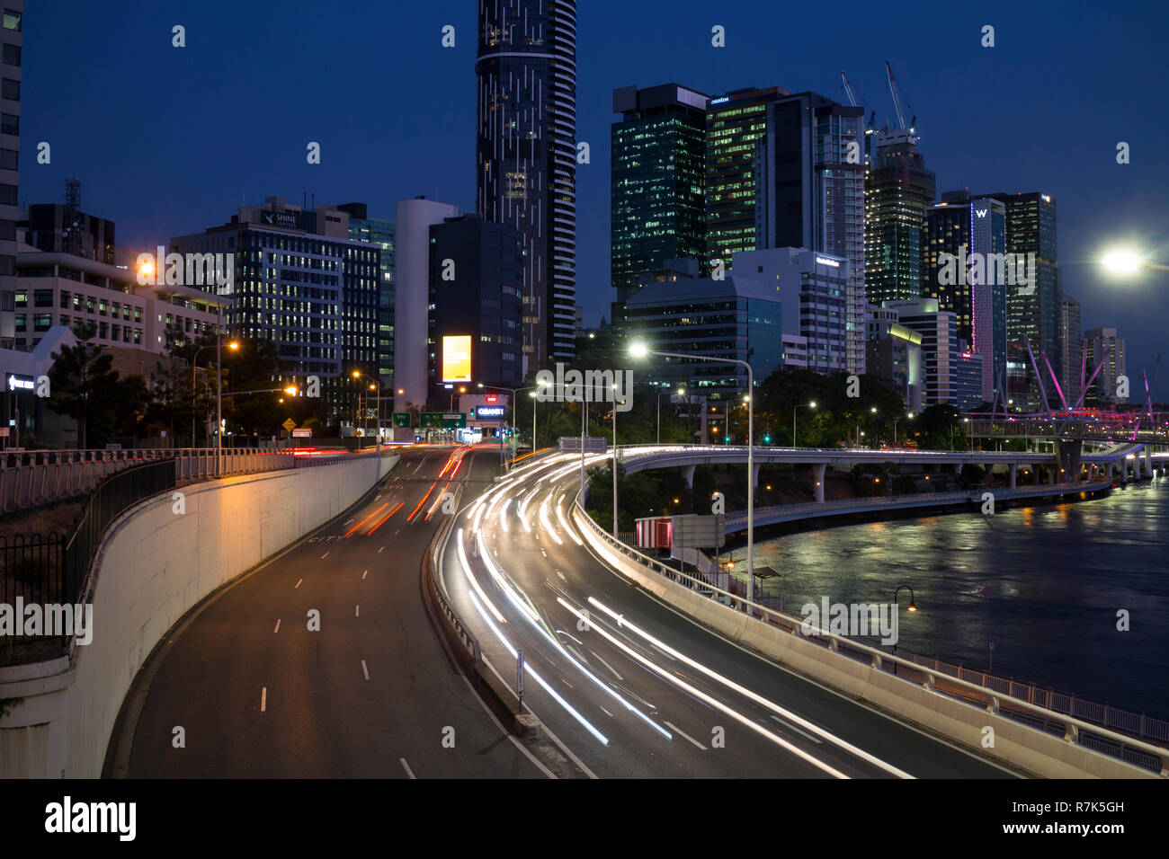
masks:
<svg viewBox="0 0 1169 859"><path fill-rule="evenodd" d="M574 774L545 744L521 747L500 728L422 602L420 560L445 515L442 494L489 485L498 453L400 453L358 505L220 591L154 654L127 697L146 692L125 726L129 776ZM173 744L177 726L185 748Z"/></svg>

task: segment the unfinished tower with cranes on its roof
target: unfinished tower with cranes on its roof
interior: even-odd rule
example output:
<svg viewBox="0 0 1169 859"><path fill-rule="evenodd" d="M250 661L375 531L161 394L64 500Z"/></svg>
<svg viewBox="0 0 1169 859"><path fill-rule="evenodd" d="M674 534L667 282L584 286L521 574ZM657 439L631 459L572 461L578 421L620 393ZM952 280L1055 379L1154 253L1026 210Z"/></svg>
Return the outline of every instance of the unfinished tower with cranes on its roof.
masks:
<svg viewBox="0 0 1169 859"><path fill-rule="evenodd" d="M865 183L865 296L872 304L921 295L926 208L936 178L909 129L878 132L877 158Z"/></svg>

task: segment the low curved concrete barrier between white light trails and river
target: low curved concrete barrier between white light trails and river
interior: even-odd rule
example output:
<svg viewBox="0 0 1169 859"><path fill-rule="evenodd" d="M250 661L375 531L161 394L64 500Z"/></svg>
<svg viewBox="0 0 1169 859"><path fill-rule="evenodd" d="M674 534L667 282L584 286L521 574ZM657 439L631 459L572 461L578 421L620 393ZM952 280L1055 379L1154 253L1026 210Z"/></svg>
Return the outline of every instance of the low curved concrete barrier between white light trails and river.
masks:
<svg viewBox="0 0 1169 859"><path fill-rule="evenodd" d="M580 521L579 508L574 508L574 517L581 533L609 566L703 625L852 698L949 737L975 754L985 755L1010 769L1023 769L1047 778L1156 778L1155 774L1140 767L1093 753L1007 716L899 679L832 652L802 636L753 619L690 588L663 579L610 549L602 541L592 539L588 525ZM983 728L988 726L995 732L994 748L982 746Z"/></svg>

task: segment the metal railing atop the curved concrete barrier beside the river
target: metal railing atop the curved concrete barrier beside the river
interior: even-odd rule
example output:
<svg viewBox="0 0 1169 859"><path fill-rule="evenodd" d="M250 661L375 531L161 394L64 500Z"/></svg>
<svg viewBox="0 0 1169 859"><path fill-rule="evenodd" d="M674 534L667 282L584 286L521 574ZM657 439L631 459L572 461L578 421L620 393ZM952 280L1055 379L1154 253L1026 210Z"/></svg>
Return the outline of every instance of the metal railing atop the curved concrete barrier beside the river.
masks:
<svg viewBox="0 0 1169 859"><path fill-rule="evenodd" d="M801 628L804 618L788 615L760 603L748 602L738 594L722 590L704 579L697 579L672 569L656 559L644 555L637 549L616 540L593 520L581 504L581 490L577 490L576 498L573 501L573 513L576 519L583 519L596 539L604 541L635 563L641 564L651 573L658 574L663 579L682 584L701 596L720 602L735 611L749 614L759 623L767 623L794 636L803 635ZM878 671L893 673L906 683L914 683L915 680L911 678L920 676L921 685L931 692L966 702L974 702L991 713L1004 715L1015 721L1045 730L1049 734L1061 735L1067 742L1073 744L1082 746L1112 757L1119 757L1142 769L1157 773L1161 776L1169 776L1169 748L1154 746L1142 740L1118 734L1108 727L1093 725L1070 713L1060 713L1032 701L1016 698L1010 694L1010 687L1003 691L994 686L980 685L962 677L961 670L950 673L947 671L949 666L945 663L936 663L936 667L932 667L928 663L924 664L904 657L890 656L877 647L862 644L844 636L833 635L823 629L816 629L812 635L804 636L804 638L822 644L832 652L841 653L860 663L866 663ZM893 666L892 672L890 672L890 666ZM899 674L897 671L898 666L904 667L906 671ZM1082 712L1086 708L1081 706L1080 709ZM1118 711L1118 713L1120 712ZM1134 719L1137 721L1133 722ZM1148 720L1142 716L1135 716L1132 713L1126 713L1125 720L1128 723L1137 723L1142 727L1151 726L1154 729L1160 730L1160 726L1155 723L1161 720ZM1119 721L1121 721L1119 718L1113 719L1114 725Z"/></svg>

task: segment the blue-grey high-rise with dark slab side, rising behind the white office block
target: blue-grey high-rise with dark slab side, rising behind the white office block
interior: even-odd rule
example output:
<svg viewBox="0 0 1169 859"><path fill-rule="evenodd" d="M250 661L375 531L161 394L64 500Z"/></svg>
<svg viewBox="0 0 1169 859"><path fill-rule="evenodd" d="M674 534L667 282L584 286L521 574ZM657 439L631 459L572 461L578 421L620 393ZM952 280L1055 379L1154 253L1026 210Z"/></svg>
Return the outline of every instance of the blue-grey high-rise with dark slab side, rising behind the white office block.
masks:
<svg viewBox="0 0 1169 859"><path fill-rule="evenodd" d="M844 358L849 373L864 373L865 167L852 160L864 143L864 109L801 92L769 101L761 120L755 247L807 248L849 262Z"/></svg>

